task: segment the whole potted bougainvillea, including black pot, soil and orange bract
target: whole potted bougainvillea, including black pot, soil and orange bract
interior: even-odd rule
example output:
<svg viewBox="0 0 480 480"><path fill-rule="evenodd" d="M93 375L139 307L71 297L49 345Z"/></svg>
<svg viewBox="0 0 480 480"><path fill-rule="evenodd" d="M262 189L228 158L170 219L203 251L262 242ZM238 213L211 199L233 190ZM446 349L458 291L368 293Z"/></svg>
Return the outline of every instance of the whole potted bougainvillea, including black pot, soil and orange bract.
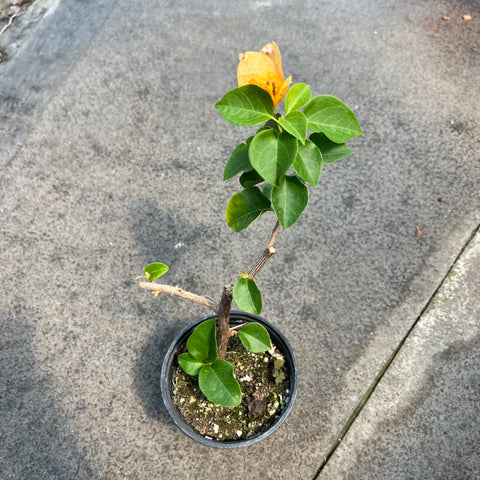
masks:
<svg viewBox="0 0 480 480"><path fill-rule="evenodd" d="M161 382L175 423L195 440L219 448L265 438L292 408L298 385L295 357L278 329L258 316L262 295L255 279L275 254L280 228L291 227L305 210L307 185L317 187L323 165L348 157L352 152L345 142L362 135L355 114L339 99L312 98L305 83L290 87L275 43L241 54L237 76L238 88L215 107L234 125L260 128L226 162L223 179L239 175L240 181L226 219L240 232L272 211L276 223L268 244L249 272L239 271L236 282L223 288L218 303L156 283L168 271L163 263L147 265L140 277L147 279L140 288L155 296L176 295L213 311L172 343ZM284 97L285 111L276 113ZM232 300L243 312L231 311Z"/></svg>

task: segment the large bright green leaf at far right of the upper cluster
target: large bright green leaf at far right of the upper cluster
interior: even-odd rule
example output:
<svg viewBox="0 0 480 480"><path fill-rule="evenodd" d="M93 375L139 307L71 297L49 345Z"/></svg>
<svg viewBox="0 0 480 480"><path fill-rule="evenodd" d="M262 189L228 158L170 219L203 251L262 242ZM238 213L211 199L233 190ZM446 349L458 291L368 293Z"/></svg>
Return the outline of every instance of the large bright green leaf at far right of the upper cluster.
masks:
<svg viewBox="0 0 480 480"><path fill-rule="evenodd" d="M323 132L332 142L345 143L349 138L363 135L352 109L338 98L318 95L303 111L312 132Z"/></svg>

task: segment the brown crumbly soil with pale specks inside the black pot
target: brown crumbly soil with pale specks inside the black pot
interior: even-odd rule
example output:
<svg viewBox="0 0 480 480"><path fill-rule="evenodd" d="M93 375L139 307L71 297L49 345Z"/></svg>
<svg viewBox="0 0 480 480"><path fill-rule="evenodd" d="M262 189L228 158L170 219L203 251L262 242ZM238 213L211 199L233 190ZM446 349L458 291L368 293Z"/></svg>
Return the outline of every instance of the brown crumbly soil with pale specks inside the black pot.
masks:
<svg viewBox="0 0 480 480"><path fill-rule="evenodd" d="M200 391L198 377L176 367L173 401L185 420L203 436L216 440L251 438L266 430L285 407L290 382L285 359L275 346L269 352L251 353L240 340L229 340L226 360L233 364L242 390L234 408L212 404Z"/></svg>

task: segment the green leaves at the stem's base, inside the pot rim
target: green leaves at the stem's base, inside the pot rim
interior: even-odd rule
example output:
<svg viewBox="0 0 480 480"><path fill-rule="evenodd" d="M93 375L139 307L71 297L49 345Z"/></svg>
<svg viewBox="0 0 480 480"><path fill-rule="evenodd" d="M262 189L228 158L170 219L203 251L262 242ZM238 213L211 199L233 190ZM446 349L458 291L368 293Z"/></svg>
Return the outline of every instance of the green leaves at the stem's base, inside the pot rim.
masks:
<svg viewBox="0 0 480 480"><path fill-rule="evenodd" d="M270 336L259 323L247 323L237 333L243 346L253 353L270 350ZM198 375L202 393L216 405L236 407L242 399L240 385L233 373L233 366L218 356L215 318L202 322L187 340L188 352L178 356L183 371Z"/></svg>

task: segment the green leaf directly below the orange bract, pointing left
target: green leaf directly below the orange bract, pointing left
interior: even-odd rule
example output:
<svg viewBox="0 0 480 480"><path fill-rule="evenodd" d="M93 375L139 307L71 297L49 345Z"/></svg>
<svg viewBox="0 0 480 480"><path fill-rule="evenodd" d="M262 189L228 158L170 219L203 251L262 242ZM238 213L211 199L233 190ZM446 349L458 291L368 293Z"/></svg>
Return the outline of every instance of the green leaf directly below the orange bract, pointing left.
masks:
<svg viewBox="0 0 480 480"><path fill-rule="evenodd" d="M268 92L256 85L231 90L215 105L234 125L259 125L273 117L273 101Z"/></svg>

